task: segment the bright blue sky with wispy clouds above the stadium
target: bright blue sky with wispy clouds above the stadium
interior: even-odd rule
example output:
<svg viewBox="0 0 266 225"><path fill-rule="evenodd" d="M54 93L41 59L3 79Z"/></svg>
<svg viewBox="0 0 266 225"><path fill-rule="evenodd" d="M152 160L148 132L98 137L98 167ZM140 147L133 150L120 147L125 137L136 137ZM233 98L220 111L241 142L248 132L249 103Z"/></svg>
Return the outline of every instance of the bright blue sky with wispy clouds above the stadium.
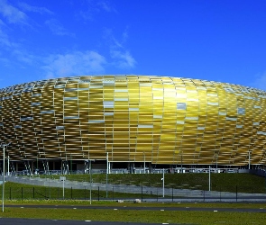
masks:
<svg viewBox="0 0 266 225"><path fill-rule="evenodd" d="M0 0L0 88L178 76L266 90L265 0Z"/></svg>

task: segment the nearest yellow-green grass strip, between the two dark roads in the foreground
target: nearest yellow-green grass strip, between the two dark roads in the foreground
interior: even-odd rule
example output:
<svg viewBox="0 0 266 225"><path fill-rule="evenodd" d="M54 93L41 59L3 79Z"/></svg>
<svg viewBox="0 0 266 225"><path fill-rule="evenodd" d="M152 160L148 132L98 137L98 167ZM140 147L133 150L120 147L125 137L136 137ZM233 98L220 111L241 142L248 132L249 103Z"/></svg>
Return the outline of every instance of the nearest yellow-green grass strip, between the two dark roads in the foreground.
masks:
<svg viewBox="0 0 266 225"><path fill-rule="evenodd" d="M49 220L99 220L150 223L181 224L265 224L265 213L219 212L219 211L136 211L136 210L96 210L96 209L27 209L5 208L0 212L5 218L36 218Z"/></svg>

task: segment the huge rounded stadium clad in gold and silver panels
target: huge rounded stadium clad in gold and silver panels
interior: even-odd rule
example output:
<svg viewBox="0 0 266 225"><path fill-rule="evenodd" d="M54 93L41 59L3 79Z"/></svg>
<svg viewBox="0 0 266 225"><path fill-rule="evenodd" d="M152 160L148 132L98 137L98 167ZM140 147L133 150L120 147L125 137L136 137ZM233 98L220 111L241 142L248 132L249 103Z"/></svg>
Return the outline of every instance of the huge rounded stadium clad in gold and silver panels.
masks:
<svg viewBox="0 0 266 225"><path fill-rule="evenodd" d="M265 103L252 87L179 77L41 80L0 89L0 139L13 171L260 166Z"/></svg>

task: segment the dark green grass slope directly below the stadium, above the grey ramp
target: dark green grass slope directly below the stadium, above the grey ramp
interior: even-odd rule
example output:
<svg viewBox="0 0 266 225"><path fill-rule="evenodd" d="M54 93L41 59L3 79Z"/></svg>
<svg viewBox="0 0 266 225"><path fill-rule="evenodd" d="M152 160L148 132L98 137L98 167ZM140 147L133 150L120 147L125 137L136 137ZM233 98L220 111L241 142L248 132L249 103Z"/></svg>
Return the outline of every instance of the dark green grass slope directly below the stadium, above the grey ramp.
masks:
<svg viewBox="0 0 266 225"><path fill-rule="evenodd" d="M66 175L68 180L89 182L89 175ZM59 179L60 175L42 175ZM92 175L94 183L105 183L106 175ZM165 174L165 186L173 188L188 188L208 190L208 174ZM161 187L160 174L117 174L108 175L109 184L134 184ZM235 192L236 188L243 193L266 193L264 177L250 174L211 174L211 188L213 191Z"/></svg>

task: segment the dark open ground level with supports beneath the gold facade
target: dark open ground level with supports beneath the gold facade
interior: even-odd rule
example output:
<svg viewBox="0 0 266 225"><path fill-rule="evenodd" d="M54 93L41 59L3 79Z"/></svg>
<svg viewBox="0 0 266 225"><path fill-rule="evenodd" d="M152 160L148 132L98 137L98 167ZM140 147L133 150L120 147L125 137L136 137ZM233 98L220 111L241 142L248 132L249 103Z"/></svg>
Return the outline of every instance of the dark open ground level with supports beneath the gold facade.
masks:
<svg viewBox="0 0 266 225"><path fill-rule="evenodd" d="M241 173L264 169L263 166L222 165L157 165L151 162L106 162L105 160L36 160L10 161L5 175L69 175L69 174L162 174L162 173ZM0 174L3 172L0 161ZM244 172L246 173L246 172Z"/></svg>

